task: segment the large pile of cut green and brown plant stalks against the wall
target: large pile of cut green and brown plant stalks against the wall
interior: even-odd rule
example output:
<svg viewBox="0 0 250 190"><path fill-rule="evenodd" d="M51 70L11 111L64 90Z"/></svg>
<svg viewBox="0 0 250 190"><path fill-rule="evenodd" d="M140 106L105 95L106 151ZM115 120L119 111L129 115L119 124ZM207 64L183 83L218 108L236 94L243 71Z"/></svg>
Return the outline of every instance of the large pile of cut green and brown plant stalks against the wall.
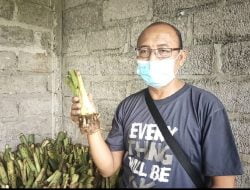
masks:
<svg viewBox="0 0 250 190"><path fill-rule="evenodd" d="M17 150L6 145L0 153L0 188L114 187L114 176L98 173L89 147L72 144L66 132L41 143L35 143L33 134L21 134L20 141Z"/></svg>

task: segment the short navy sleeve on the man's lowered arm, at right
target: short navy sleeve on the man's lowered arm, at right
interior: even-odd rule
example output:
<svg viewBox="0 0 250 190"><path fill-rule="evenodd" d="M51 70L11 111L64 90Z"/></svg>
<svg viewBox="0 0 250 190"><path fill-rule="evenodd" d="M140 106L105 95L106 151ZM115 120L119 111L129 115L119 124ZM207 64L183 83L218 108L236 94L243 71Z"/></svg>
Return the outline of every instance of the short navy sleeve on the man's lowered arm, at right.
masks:
<svg viewBox="0 0 250 190"><path fill-rule="evenodd" d="M202 141L204 175L223 176L243 173L225 108L207 117Z"/></svg>

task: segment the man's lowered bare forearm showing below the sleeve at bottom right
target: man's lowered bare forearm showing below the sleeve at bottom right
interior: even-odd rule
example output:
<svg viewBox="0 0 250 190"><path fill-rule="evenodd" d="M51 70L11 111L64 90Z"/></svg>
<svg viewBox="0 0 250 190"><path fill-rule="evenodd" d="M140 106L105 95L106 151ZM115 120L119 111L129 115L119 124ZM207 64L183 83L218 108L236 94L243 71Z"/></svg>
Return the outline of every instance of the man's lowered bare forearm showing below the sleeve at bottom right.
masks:
<svg viewBox="0 0 250 190"><path fill-rule="evenodd" d="M235 176L212 176L211 188L235 188Z"/></svg>

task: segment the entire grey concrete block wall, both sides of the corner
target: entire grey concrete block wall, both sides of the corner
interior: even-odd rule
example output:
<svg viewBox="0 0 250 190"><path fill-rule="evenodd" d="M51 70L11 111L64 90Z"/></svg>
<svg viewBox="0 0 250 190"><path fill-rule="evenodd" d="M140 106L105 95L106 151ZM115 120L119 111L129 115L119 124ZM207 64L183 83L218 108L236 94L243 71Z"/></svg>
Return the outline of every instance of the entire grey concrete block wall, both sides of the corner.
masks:
<svg viewBox="0 0 250 190"><path fill-rule="evenodd" d="M146 87L135 74L139 33L167 21L189 51L179 77L228 111L245 172L237 186L249 187L249 10L248 0L0 0L0 149L20 133L40 140L59 130L87 143L69 117L71 68L93 94L105 137L119 102Z"/></svg>

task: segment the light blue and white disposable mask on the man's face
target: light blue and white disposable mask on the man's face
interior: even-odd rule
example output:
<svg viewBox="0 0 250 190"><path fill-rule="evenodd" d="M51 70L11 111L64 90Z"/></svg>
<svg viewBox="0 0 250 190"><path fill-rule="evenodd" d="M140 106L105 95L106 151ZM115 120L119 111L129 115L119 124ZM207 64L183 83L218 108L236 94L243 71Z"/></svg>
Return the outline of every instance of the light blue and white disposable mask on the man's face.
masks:
<svg viewBox="0 0 250 190"><path fill-rule="evenodd" d="M148 86L161 88L175 78L174 66L173 58L157 61L137 60L137 74Z"/></svg>

